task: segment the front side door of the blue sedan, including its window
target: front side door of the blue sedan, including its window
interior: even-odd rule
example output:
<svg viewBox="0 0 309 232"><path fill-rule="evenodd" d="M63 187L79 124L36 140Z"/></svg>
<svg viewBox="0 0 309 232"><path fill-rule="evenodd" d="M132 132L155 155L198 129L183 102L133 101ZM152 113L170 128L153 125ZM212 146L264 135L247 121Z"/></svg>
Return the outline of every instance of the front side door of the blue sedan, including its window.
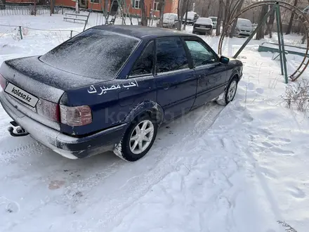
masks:
<svg viewBox="0 0 309 232"><path fill-rule="evenodd" d="M219 62L217 54L201 39L185 38L197 75L197 99L194 107L219 96L227 82L226 65Z"/></svg>

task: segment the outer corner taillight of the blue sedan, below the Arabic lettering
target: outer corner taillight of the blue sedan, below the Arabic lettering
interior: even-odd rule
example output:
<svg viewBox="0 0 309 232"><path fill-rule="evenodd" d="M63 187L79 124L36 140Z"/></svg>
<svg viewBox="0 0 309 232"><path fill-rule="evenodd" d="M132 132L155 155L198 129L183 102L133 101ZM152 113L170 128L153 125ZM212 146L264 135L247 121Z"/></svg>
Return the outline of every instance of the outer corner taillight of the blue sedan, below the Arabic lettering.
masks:
<svg viewBox="0 0 309 232"><path fill-rule="evenodd" d="M60 105L60 119L61 123L67 124L72 127L91 124L91 108L88 105L74 107Z"/></svg>

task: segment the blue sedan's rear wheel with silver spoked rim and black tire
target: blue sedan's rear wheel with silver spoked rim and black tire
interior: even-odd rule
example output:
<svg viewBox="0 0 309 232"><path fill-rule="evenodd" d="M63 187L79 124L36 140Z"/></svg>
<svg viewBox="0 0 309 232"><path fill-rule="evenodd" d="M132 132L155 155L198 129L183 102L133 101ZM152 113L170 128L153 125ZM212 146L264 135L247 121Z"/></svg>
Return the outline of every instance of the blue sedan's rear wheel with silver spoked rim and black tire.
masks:
<svg viewBox="0 0 309 232"><path fill-rule="evenodd" d="M143 127L145 128L143 129ZM138 128L141 134L138 134ZM148 133L147 129L149 131ZM149 113L145 113L144 115L136 117L136 119L131 122L128 129L126 129L126 132L120 143L116 146L116 148L114 148L114 154L129 162L139 160L144 155L146 155L146 153L152 147L152 144L155 142L157 130L157 121L153 119ZM138 135L140 135L140 137L138 137ZM148 141L143 140L146 137ZM140 146L142 148L140 148Z"/></svg>

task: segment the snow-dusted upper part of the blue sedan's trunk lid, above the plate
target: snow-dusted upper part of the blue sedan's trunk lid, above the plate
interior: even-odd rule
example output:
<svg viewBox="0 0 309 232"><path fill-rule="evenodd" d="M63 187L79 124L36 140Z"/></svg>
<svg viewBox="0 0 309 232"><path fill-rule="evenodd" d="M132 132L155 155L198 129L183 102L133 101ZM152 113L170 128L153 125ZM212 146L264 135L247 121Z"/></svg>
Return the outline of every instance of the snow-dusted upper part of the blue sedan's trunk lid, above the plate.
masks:
<svg viewBox="0 0 309 232"><path fill-rule="evenodd" d="M8 82L29 94L53 103L58 103L68 89L102 82L51 67L41 62L39 56L6 60L1 65L0 73Z"/></svg>

